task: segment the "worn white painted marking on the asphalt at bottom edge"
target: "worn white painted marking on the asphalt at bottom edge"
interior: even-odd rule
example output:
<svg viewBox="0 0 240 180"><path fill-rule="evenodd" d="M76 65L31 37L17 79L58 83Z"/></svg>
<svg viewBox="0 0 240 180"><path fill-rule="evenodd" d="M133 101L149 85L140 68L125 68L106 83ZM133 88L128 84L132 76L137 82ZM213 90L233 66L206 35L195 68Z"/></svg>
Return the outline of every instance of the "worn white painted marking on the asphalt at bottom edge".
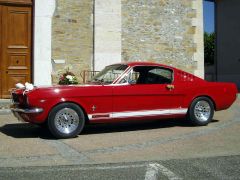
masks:
<svg viewBox="0 0 240 180"><path fill-rule="evenodd" d="M178 177L172 171L170 171L165 166L154 163L149 164L147 167L147 172L145 174L145 180L157 180L158 174L161 173L162 175L166 176L169 180L180 180L182 178Z"/></svg>

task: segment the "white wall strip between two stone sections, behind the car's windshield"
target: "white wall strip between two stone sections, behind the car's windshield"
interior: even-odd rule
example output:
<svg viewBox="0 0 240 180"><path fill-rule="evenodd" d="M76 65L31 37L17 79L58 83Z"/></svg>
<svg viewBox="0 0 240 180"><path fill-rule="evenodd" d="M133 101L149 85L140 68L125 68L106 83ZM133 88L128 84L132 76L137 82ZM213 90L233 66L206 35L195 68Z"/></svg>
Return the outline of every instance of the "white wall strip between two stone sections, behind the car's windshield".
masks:
<svg viewBox="0 0 240 180"><path fill-rule="evenodd" d="M95 70L121 62L121 0L95 0Z"/></svg>

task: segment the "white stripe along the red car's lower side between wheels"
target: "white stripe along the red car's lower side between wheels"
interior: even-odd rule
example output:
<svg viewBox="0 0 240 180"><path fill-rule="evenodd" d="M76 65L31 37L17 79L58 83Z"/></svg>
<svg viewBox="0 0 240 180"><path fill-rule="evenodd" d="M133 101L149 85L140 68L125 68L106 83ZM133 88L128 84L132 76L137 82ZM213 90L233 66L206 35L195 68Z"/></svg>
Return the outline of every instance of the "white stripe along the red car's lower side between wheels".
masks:
<svg viewBox="0 0 240 180"><path fill-rule="evenodd" d="M145 111L126 111L126 112L109 112L100 114L90 114L89 119L99 119L101 116L108 115L108 118L127 118L127 117L141 117L141 116L157 116L157 115L174 115L174 114L186 114L187 109L157 109L157 110L145 110ZM99 116L99 117L98 117Z"/></svg>

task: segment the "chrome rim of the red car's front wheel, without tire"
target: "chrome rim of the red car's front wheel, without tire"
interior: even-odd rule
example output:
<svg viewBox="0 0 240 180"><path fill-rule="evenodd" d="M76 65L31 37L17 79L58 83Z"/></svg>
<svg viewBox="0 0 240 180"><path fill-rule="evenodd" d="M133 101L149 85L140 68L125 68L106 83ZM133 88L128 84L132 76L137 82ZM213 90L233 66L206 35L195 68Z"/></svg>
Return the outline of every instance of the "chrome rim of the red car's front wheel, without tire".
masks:
<svg viewBox="0 0 240 180"><path fill-rule="evenodd" d="M79 116L73 109L64 108L57 112L54 123L58 131L64 134L70 134L77 129Z"/></svg>

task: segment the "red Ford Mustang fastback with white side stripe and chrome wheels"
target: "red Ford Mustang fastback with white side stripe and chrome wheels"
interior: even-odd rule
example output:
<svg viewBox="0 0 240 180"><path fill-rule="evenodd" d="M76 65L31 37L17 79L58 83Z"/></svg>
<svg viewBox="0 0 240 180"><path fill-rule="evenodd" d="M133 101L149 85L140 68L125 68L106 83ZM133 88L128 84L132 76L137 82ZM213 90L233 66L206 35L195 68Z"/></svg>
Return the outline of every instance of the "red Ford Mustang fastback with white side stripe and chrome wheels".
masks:
<svg viewBox="0 0 240 180"><path fill-rule="evenodd" d="M16 89L11 109L20 120L46 124L57 138L71 138L86 123L186 117L207 125L214 111L229 108L236 97L233 83L135 62L107 66L86 85Z"/></svg>

